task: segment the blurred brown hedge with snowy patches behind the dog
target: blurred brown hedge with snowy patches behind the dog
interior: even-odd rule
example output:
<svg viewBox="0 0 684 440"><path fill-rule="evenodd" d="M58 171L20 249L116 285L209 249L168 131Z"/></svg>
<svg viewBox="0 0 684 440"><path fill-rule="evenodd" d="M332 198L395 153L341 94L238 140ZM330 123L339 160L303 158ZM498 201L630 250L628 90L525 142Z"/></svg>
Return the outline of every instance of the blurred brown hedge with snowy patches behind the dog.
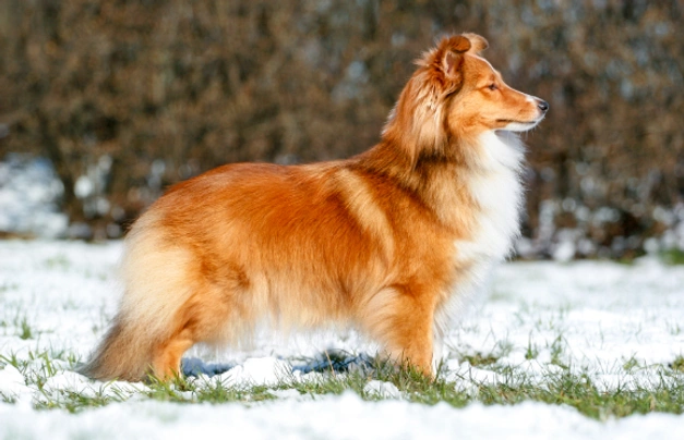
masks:
<svg viewBox="0 0 684 440"><path fill-rule="evenodd" d="M360 152L412 61L476 32L551 105L521 258L684 250L679 0L1 0L0 234L117 239L235 161ZM677 250L679 249L679 250Z"/></svg>

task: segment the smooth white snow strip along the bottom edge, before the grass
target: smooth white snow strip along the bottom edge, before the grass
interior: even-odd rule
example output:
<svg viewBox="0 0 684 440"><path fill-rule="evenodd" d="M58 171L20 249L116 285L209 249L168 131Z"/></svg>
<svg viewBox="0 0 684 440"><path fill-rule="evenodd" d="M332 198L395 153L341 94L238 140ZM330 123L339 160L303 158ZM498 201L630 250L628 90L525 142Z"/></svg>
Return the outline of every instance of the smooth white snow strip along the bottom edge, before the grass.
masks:
<svg viewBox="0 0 684 440"><path fill-rule="evenodd" d="M405 401L363 402L352 392L316 401L255 406L115 403L75 415L0 404L2 435L23 439L576 439L671 438L681 416L651 414L599 423L572 408L539 403L471 404L455 410ZM31 420L31 421L29 421ZM29 423L28 423L29 421Z"/></svg>

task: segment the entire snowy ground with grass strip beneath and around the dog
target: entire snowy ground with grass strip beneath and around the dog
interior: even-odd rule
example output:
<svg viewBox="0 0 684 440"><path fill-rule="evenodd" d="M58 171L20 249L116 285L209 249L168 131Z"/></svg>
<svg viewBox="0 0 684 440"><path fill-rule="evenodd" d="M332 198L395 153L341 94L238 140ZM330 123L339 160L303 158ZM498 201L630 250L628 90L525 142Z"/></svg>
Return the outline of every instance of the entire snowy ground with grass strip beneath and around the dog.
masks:
<svg viewBox="0 0 684 440"><path fill-rule="evenodd" d="M0 241L0 438L664 438L684 416L684 266L508 262L437 380L349 330L193 349L171 384L74 372L107 328L121 243ZM332 366L331 366L332 364Z"/></svg>

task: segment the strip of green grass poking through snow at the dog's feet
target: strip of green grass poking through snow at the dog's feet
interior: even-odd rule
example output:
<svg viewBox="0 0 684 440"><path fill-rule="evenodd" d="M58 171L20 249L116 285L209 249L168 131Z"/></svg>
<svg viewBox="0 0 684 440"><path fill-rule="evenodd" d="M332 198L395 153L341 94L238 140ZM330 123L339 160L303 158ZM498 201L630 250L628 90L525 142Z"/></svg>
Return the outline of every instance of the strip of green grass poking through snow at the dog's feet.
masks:
<svg viewBox="0 0 684 440"><path fill-rule="evenodd" d="M418 371L371 359L369 368L356 368L345 371L335 370L333 364L314 375L313 379L301 380L293 375L284 375L275 386L240 384L228 386L215 378L178 377L170 382L152 379L140 391L122 388L120 382L93 382L89 392L73 390L55 390L47 387L49 378L63 369L72 369L76 365L75 356L68 353L29 353L27 358L16 355L0 356L0 369L4 365L17 368L26 380L26 384L36 390L34 406L38 410L62 408L69 412L81 412L91 407L104 406L113 402L122 402L132 396L154 401L193 403L242 403L253 405L266 401L281 399L280 395L296 399L316 400L323 395L340 394L351 390L367 401L401 399L409 402L434 405L446 402L454 407L463 407L469 403L480 402L484 405L513 405L525 401L543 402L555 405L568 405L579 413L599 420L610 417L624 417L632 414L652 412L682 414L684 412L684 358L679 356L668 366L656 366L655 380L649 386L627 388L619 386L612 391L602 390L595 384L590 375L573 371L572 368L549 369L540 377L530 376L521 368L496 368L493 355L477 353L465 356L465 360L479 368L491 367L496 370L496 381L479 381L473 379L470 370L454 377L445 376L441 368L431 380ZM338 364L339 365L339 364ZM625 364L625 383L629 380L629 371L637 365L635 359ZM473 368L471 367L471 368ZM371 380L388 382L396 387L400 396L388 396L367 388ZM12 403L12 395L0 393L0 401Z"/></svg>

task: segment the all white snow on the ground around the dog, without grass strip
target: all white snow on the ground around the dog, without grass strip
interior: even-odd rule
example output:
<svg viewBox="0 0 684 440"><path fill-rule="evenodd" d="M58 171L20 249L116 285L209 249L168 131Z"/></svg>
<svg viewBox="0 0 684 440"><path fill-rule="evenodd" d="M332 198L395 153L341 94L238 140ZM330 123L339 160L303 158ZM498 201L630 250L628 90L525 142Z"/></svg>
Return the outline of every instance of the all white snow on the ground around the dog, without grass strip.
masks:
<svg viewBox="0 0 684 440"><path fill-rule="evenodd" d="M151 400L141 383L93 382L72 371L69 359L86 357L115 311L120 252L118 242L0 241L0 438L644 439L671 437L684 426L677 415L596 421L568 406L535 402L429 406L379 381L369 382L369 390L389 399L280 390L275 401L218 405ZM195 380L240 386L275 383L284 376L308 380L319 374L307 372L301 357L327 349L371 355L376 350L351 331L289 339L263 332L252 347L193 349L189 356L204 359L194 362L204 370L223 366L213 378ZM478 355L495 363L470 365ZM682 355L684 267L653 258L631 266L513 262L497 270L485 297L464 310L445 341L444 365L448 380L466 388L505 380L511 367L540 384L555 370L581 371L610 392L668 380L662 371ZM23 370L10 359L19 359ZM35 410L73 393L116 393L124 401L76 414Z"/></svg>

